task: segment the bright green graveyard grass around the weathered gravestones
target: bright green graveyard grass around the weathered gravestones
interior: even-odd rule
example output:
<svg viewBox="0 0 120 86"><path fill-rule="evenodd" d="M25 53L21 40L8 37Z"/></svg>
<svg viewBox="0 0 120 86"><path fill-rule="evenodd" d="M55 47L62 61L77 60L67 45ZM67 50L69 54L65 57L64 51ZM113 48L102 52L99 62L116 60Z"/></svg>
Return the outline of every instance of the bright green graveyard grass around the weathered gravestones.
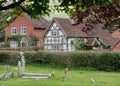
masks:
<svg viewBox="0 0 120 86"><path fill-rule="evenodd" d="M5 65L0 65L0 74L4 72L4 67ZM0 86L120 86L119 72L68 69L67 77L65 81L62 82L61 77L64 73L63 68L27 65L26 72L29 73L52 73L55 71L54 78L39 80L18 78L17 66L11 66L11 71L14 71L14 78L1 80ZM90 80L91 75L94 75L95 84Z"/></svg>

